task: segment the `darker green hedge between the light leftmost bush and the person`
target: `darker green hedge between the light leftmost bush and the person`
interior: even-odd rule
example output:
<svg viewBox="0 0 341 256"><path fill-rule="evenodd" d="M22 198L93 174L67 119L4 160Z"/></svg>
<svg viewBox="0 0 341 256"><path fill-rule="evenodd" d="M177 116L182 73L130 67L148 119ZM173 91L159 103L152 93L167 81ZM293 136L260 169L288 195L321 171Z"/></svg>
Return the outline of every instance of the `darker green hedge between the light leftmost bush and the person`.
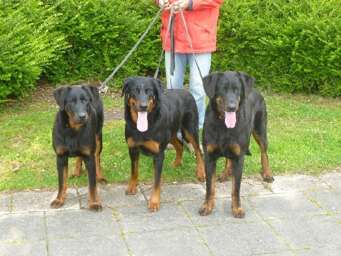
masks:
<svg viewBox="0 0 341 256"><path fill-rule="evenodd" d="M63 13L59 30L71 46L49 69L47 75L55 83L106 79L158 11L151 0L51 2L56 13ZM154 53L159 53L160 42L159 27L155 25L108 85L117 77L122 81L124 76L147 75L155 70Z"/></svg>

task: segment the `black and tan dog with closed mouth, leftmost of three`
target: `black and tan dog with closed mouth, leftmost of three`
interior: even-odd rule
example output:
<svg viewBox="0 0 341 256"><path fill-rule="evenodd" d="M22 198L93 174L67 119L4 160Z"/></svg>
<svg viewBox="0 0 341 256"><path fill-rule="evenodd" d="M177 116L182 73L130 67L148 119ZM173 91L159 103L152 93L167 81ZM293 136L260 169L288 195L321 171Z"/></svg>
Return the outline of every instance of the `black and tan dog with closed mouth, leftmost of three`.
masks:
<svg viewBox="0 0 341 256"><path fill-rule="evenodd" d="M100 166L102 151L103 101L98 88L92 85L61 86L54 90L54 98L60 107L52 131L52 145L56 153L59 189L51 208L63 206L68 180L69 157L76 157L74 177L82 172L84 161L89 178L90 210L100 212L96 175L106 182Z"/></svg>

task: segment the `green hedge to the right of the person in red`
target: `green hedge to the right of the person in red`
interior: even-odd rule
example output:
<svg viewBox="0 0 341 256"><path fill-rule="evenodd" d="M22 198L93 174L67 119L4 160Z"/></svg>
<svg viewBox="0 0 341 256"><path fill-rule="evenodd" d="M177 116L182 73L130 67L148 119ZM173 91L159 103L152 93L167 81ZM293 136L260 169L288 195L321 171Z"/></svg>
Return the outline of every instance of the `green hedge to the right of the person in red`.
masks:
<svg viewBox="0 0 341 256"><path fill-rule="evenodd" d="M230 0L214 70L237 69L277 92L341 96L341 1Z"/></svg>

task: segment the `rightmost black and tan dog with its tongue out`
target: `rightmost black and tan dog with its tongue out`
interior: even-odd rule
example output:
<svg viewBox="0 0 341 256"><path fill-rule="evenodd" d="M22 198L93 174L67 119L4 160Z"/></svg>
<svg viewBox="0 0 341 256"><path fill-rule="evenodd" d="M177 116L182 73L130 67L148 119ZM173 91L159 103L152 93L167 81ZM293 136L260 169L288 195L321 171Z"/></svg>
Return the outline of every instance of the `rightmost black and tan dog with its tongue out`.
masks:
<svg viewBox="0 0 341 256"><path fill-rule="evenodd" d="M215 72L203 78L210 102L205 113L203 147L205 155L206 197L200 215L211 214L215 194L216 162L226 158L219 180L232 175L232 213L243 218L240 184L244 155L248 155L252 134L261 149L261 174L273 182L268 163L267 111L260 92L253 87L254 79L236 71Z"/></svg>

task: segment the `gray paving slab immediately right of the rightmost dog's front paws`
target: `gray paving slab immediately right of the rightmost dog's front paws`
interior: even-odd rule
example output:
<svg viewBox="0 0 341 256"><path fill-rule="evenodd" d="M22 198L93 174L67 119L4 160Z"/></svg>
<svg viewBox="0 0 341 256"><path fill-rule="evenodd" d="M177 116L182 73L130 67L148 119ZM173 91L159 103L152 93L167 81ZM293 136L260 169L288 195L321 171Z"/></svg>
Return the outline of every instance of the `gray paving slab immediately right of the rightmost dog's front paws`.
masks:
<svg viewBox="0 0 341 256"><path fill-rule="evenodd" d="M265 219L300 217L325 213L300 192L252 196L247 197L246 200Z"/></svg>

